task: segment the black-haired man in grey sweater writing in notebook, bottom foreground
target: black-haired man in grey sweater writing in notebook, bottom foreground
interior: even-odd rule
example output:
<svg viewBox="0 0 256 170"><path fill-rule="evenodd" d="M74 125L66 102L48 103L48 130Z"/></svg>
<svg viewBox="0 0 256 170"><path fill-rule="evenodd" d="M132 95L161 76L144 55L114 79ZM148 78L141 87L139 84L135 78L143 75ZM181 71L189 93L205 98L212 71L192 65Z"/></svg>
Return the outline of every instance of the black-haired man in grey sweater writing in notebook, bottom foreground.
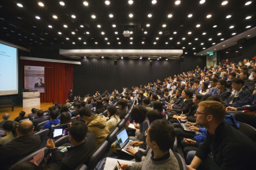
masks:
<svg viewBox="0 0 256 170"><path fill-rule="evenodd" d="M168 120L154 120L154 122L150 123L146 139L147 146L150 147L147 157L144 161L131 164L131 167L141 170L179 170L180 166L178 161L176 160L173 151L170 150L173 147L175 140L173 129L173 125L169 124ZM128 166L128 164L121 164L119 169L126 169Z"/></svg>

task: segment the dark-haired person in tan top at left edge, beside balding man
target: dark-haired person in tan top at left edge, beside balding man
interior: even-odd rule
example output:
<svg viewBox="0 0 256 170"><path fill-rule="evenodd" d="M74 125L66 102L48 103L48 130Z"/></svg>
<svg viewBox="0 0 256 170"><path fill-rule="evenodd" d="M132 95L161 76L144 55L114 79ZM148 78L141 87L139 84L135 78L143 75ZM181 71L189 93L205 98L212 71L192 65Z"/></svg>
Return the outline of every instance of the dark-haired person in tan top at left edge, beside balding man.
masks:
<svg viewBox="0 0 256 170"><path fill-rule="evenodd" d="M11 142L17 137L17 124L13 120L7 121L6 124L2 126L2 128L5 130L5 136L0 139L0 147L6 145L6 143Z"/></svg>

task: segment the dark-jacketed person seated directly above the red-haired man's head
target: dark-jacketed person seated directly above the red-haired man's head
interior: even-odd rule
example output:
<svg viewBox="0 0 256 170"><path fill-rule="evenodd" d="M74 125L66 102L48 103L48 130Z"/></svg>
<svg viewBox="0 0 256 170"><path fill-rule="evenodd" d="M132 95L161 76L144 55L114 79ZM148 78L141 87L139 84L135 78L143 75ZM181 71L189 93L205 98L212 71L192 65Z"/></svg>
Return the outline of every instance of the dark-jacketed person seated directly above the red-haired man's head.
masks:
<svg viewBox="0 0 256 170"><path fill-rule="evenodd" d="M229 91L227 86L228 86L228 83L224 79L220 79L217 82L217 89L218 89L218 91L215 94L215 96L221 98L222 101L226 100L230 96L230 94L231 94L231 91Z"/></svg>

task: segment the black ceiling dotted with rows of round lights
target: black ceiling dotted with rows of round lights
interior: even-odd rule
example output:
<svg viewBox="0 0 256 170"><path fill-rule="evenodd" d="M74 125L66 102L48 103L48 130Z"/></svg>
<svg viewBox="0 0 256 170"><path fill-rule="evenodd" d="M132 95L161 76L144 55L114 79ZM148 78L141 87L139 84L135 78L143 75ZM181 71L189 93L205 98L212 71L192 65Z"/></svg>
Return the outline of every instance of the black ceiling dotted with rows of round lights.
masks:
<svg viewBox="0 0 256 170"><path fill-rule="evenodd" d="M184 54L192 55L202 51L204 47L207 49L213 46L213 42L217 44L221 39L231 38L234 32L238 35L256 26L255 0L251 0L248 6L245 4L249 0L229 0L224 6L221 5L224 0L206 0L203 4L200 4L200 1L181 0L180 5L176 5L176 0L157 0L156 4L152 4L151 0L133 0L132 5L129 5L128 0L109 0L110 4L107 6L103 0L87 0L88 6L84 6L85 1L80 0L2 0L0 39L25 47L59 44L65 49L185 47ZM44 6L39 6L39 2L43 2ZM61 6L59 2L65 2L65 6ZM17 6L17 3L23 7ZM129 17L130 13L133 14L132 18ZM109 14L113 14L113 17L110 18ZM147 17L148 14L152 14L152 17ZM169 14L173 17L169 18ZM192 14L192 17L187 17L188 14ZM211 17L206 18L209 14ZM53 15L58 19L54 19ZM72 15L76 18L72 18ZM93 19L92 15L96 18ZM227 19L228 15L232 17ZM37 20L36 16L40 17L40 20ZM251 18L246 19L248 16ZM68 28L64 28L64 24ZM101 28L97 27L98 24ZM113 24L116 24L116 28L113 28ZM147 27L147 24L150 24L150 27ZM166 24L165 28L162 27L163 24ZM196 28L197 24L201 26ZM83 28L80 25L83 25ZM217 25L217 28L213 28L213 25ZM246 28L248 25L250 28ZM133 31L130 36L132 40L122 35L126 30ZM72 31L75 35L72 35ZM90 34L87 34L87 31ZM105 35L101 34L102 31ZM115 34L115 31L118 34ZM144 31L147 31L147 35ZM161 35L159 31L162 31ZM173 34L174 31L176 34ZM191 35L188 35L189 31ZM61 32L61 35L58 32ZM202 35L203 32L206 32L206 35ZM221 35L217 35L218 33Z"/></svg>

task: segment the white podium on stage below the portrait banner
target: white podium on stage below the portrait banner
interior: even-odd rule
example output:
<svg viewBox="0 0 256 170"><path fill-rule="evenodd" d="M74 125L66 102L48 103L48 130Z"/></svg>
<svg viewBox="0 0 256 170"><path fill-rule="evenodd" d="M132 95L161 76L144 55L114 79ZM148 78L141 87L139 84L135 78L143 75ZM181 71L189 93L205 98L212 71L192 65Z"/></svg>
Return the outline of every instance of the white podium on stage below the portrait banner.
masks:
<svg viewBox="0 0 256 170"><path fill-rule="evenodd" d="M40 105L40 91L23 92L23 107Z"/></svg>

